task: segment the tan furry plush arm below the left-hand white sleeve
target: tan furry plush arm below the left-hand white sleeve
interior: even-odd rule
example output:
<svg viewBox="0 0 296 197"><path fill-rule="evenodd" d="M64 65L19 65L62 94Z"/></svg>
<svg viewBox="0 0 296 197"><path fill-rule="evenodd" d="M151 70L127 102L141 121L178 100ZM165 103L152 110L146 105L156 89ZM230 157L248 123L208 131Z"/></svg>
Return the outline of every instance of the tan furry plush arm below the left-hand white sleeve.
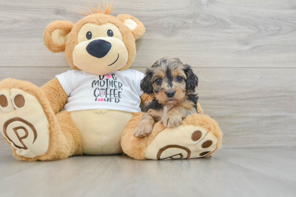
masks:
<svg viewBox="0 0 296 197"><path fill-rule="evenodd" d="M53 112L60 112L67 103L68 95L61 86L59 80L54 78L41 87L45 93Z"/></svg>

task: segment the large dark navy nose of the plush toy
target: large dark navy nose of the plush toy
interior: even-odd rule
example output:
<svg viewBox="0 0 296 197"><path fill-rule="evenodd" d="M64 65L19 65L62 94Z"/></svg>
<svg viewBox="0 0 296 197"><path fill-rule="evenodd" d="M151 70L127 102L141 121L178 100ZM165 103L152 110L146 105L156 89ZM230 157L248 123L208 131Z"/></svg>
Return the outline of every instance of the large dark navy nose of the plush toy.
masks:
<svg viewBox="0 0 296 197"><path fill-rule="evenodd" d="M86 46L86 51L97 58L105 57L110 49L111 43L106 40L94 40Z"/></svg>

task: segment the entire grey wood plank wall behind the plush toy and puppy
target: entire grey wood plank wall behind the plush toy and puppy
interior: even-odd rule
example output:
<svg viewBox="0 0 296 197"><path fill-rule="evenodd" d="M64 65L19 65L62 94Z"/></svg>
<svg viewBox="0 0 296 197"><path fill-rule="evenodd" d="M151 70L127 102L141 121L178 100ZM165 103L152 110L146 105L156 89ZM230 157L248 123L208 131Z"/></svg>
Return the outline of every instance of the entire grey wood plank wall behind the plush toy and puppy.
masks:
<svg viewBox="0 0 296 197"><path fill-rule="evenodd" d="M102 1L97 0L102 4ZM0 80L41 86L67 71L43 45L48 23L75 23L86 0L1 0ZM164 56L194 67L204 113L219 122L224 148L296 145L296 2L293 0L118 0L112 15L146 27L132 69ZM0 147L4 148L3 139Z"/></svg>

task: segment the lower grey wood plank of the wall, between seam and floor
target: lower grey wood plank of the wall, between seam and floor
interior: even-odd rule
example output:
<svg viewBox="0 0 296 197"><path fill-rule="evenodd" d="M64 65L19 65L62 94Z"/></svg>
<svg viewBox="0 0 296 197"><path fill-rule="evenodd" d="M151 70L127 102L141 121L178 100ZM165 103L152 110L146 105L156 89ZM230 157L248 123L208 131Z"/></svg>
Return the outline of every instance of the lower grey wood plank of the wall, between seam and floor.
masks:
<svg viewBox="0 0 296 197"><path fill-rule="evenodd" d="M14 77L40 87L69 68L1 69L0 80ZM223 148L296 145L296 68L194 68L194 72L204 113L216 119L224 133Z"/></svg>

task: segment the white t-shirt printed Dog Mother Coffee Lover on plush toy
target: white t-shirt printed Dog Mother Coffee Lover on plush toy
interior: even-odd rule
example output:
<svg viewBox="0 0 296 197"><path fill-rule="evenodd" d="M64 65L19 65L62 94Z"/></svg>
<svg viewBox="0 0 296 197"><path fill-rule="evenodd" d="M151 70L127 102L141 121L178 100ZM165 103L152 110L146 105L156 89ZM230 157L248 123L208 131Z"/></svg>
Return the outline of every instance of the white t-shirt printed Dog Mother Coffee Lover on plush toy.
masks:
<svg viewBox="0 0 296 197"><path fill-rule="evenodd" d="M66 111L119 110L140 112L140 81L144 74L136 70L114 71L107 75L94 75L79 70L69 70L56 75L69 96Z"/></svg>

